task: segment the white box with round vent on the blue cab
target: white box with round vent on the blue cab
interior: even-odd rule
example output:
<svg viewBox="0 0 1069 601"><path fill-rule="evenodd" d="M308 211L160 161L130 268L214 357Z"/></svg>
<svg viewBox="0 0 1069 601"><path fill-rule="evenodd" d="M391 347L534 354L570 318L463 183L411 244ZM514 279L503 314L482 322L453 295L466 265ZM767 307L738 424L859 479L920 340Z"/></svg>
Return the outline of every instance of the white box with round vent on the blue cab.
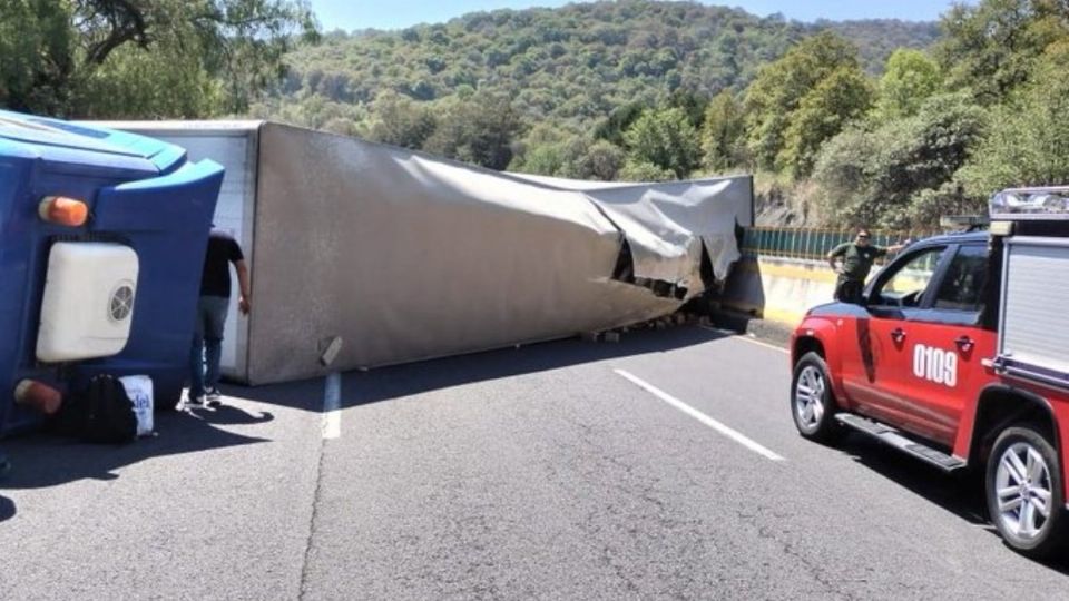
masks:
<svg viewBox="0 0 1069 601"><path fill-rule="evenodd" d="M116 355L130 337L138 260L110 243L56 243L48 256L37 358L45 363Z"/></svg>

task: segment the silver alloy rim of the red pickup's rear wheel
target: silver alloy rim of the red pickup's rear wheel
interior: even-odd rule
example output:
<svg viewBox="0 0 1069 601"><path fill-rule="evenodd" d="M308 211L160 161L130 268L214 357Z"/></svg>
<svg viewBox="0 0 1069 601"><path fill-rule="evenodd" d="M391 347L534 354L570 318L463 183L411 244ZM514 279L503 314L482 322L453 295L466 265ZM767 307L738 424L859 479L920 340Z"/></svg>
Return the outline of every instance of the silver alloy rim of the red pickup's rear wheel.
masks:
<svg viewBox="0 0 1069 601"><path fill-rule="evenodd" d="M994 494L1002 526L1019 539L1034 539L1050 518L1050 469L1034 446L1019 442L999 459Z"/></svg>

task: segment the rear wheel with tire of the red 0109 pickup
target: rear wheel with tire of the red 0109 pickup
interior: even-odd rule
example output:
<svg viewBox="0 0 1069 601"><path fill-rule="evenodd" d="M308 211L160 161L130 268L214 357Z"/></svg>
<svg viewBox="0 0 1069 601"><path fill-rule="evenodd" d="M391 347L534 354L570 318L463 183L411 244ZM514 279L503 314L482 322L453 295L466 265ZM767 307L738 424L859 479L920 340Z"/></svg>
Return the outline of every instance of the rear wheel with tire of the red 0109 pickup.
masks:
<svg viewBox="0 0 1069 601"><path fill-rule="evenodd" d="M1058 453L1032 425L1002 431L988 457L984 494L1002 540L1030 558L1048 558L1066 541L1065 494Z"/></svg>

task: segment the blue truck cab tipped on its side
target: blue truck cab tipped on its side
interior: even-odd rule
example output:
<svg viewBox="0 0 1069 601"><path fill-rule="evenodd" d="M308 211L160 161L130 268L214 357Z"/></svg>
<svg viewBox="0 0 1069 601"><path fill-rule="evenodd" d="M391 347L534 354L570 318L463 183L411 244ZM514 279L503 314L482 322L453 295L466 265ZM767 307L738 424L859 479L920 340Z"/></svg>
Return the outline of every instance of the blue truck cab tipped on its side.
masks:
<svg viewBox="0 0 1069 601"><path fill-rule="evenodd" d="M22 381L182 394L223 168L143 136L0 111L0 432Z"/></svg>

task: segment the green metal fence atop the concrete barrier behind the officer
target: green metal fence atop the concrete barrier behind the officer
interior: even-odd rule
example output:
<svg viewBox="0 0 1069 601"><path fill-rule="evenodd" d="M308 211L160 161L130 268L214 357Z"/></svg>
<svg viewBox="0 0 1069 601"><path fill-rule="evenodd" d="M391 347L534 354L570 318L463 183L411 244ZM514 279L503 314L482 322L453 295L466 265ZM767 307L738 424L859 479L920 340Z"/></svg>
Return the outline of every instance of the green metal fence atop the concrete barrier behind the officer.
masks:
<svg viewBox="0 0 1069 601"><path fill-rule="evenodd" d="M743 255L824 260L827 252L851 242L856 229L807 229L797 227L749 227L743 234ZM871 230L872 244L891 246L931 236L932 231Z"/></svg>

